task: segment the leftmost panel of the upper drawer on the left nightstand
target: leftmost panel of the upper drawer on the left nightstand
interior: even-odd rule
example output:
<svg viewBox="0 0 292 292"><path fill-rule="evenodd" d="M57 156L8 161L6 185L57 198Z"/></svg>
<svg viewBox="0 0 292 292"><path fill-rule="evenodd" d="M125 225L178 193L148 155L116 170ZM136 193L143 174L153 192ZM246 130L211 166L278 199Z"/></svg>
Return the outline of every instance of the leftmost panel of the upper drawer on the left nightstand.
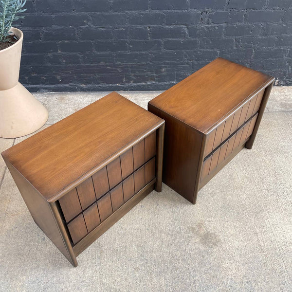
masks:
<svg viewBox="0 0 292 292"><path fill-rule="evenodd" d="M59 203L66 222L70 221L81 212L81 206L75 188L59 199Z"/></svg>

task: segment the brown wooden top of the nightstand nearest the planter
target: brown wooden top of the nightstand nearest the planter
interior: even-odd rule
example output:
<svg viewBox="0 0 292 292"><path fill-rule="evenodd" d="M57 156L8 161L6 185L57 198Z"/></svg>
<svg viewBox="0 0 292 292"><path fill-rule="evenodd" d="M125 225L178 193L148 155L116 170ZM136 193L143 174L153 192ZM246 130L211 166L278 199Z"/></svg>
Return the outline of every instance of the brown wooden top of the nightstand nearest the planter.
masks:
<svg viewBox="0 0 292 292"><path fill-rule="evenodd" d="M48 201L107 164L164 120L116 92L2 152Z"/></svg>

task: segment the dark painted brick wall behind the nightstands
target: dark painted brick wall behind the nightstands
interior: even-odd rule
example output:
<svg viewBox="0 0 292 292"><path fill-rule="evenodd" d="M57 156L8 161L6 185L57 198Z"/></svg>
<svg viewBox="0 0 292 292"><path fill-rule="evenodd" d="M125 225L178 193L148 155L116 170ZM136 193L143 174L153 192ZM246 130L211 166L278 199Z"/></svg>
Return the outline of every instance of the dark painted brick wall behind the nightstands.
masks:
<svg viewBox="0 0 292 292"><path fill-rule="evenodd" d="M164 90L218 56L292 85L292 0L28 0L31 91Z"/></svg>

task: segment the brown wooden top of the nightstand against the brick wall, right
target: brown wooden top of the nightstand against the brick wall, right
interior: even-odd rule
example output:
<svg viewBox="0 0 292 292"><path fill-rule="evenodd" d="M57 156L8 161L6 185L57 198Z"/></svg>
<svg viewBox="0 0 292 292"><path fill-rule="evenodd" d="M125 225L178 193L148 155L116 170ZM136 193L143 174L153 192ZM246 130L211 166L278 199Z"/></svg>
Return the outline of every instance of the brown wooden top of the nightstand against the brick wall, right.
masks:
<svg viewBox="0 0 292 292"><path fill-rule="evenodd" d="M217 58L149 104L206 133L274 77Z"/></svg>

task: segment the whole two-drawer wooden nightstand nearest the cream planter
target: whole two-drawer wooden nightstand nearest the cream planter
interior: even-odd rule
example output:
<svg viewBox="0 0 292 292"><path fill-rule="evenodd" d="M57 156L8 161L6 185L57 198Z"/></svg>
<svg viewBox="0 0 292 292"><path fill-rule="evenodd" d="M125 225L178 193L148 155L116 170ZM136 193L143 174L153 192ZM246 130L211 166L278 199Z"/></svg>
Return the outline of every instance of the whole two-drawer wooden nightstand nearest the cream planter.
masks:
<svg viewBox="0 0 292 292"><path fill-rule="evenodd" d="M154 188L164 120L112 92L2 152L33 219L77 266L86 249Z"/></svg>

